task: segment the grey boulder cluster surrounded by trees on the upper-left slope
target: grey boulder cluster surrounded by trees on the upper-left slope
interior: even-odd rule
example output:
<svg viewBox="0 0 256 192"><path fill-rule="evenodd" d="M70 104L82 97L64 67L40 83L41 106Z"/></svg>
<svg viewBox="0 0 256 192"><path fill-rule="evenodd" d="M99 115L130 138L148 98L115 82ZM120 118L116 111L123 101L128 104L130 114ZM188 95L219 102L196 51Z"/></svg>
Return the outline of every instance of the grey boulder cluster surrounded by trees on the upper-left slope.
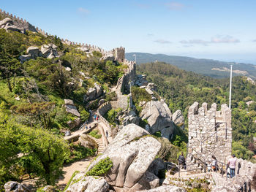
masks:
<svg viewBox="0 0 256 192"><path fill-rule="evenodd" d="M54 44L42 45L41 48L31 46L26 50L27 55L20 55L19 59L23 63L32 58L56 58L59 57L57 46Z"/></svg>

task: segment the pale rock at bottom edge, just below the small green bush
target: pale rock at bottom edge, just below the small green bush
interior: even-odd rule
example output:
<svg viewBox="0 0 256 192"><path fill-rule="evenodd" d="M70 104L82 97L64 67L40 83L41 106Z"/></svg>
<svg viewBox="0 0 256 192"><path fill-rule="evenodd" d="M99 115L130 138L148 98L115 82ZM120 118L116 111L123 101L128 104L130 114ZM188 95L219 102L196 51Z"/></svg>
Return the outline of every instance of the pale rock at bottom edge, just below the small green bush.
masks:
<svg viewBox="0 0 256 192"><path fill-rule="evenodd" d="M109 185L103 177L85 176L78 173L65 192L107 192Z"/></svg>

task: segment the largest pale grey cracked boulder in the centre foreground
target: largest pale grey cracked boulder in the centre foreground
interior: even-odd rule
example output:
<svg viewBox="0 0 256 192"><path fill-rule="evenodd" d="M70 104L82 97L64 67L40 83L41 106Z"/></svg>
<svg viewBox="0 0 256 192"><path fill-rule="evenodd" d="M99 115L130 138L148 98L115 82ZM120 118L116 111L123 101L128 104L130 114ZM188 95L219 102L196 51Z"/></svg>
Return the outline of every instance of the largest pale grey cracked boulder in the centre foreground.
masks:
<svg viewBox="0 0 256 192"><path fill-rule="evenodd" d="M113 166L105 179L116 191L137 191L155 188L157 177L148 173L148 166L154 161L161 144L145 129L135 124L124 126L104 150L102 155L91 163L87 172L100 160L107 157Z"/></svg>

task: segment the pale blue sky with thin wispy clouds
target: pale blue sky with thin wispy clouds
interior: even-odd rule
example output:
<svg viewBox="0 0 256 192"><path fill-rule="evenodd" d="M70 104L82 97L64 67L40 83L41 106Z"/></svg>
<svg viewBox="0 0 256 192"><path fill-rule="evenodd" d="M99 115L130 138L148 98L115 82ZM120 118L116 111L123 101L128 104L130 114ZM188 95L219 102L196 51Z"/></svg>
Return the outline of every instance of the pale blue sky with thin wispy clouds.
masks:
<svg viewBox="0 0 256 192"><path fill-rule="evenodd" d="M0 0L0 9L105 50L256 64L255 0Z"/></svg>

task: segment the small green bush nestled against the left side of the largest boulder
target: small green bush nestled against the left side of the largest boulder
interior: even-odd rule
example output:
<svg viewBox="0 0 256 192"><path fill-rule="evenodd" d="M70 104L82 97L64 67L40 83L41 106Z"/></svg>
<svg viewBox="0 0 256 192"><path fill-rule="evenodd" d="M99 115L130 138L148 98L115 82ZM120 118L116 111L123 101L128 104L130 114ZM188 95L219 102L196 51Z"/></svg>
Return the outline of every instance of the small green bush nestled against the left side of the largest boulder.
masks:
<svg viewBox="0 0 256 192"><path fill-rule="evenodd" d="M104 158L100 160L89 172L86 173L87 176L103 176L108 173L108 171L113 166L113 162L110 158Z"/></svg>

